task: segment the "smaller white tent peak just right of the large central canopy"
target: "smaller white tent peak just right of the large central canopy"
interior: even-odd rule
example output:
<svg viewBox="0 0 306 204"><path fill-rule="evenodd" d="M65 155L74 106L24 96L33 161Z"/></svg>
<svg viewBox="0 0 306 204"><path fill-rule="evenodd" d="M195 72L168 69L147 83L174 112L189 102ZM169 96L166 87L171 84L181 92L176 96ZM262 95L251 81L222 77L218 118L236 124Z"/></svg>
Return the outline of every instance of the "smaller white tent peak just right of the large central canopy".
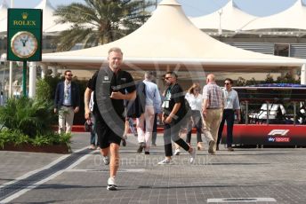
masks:
<svg viewBox="0 0 306 204"><path fill-rule="evenodd" d="M233 0L230 0L228 4L225 4L216 12L189 19L199 29L219 30L221 28L223 30L236 31L256 18L256 16L240 10L238 5Z"/></svg>

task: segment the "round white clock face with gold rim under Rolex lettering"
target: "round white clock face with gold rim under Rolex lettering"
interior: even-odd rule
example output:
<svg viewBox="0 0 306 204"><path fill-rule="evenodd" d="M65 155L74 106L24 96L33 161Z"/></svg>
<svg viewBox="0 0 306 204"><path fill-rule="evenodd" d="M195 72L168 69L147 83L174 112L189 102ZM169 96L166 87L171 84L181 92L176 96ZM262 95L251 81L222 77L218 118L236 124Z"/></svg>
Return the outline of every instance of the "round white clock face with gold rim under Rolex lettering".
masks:
<svg viewBox="0 0 306 204"><path fill-rule="evenodd" d="M37 50L36 37L28 31L20 31L12 36L12 52L23 59L27 59L35 54Z"/></svg>

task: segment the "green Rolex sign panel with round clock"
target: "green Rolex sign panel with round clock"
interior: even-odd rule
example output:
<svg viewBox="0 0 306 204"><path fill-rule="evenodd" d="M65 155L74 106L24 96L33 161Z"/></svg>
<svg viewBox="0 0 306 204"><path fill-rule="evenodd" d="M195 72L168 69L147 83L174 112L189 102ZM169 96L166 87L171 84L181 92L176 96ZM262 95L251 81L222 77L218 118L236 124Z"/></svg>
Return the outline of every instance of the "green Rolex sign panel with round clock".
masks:
<svg viewBox="0 0 306 204"><path fill-rule="evenodd" d="M7 20L7 59L41 61L43 11L8 9Z"/></svg>

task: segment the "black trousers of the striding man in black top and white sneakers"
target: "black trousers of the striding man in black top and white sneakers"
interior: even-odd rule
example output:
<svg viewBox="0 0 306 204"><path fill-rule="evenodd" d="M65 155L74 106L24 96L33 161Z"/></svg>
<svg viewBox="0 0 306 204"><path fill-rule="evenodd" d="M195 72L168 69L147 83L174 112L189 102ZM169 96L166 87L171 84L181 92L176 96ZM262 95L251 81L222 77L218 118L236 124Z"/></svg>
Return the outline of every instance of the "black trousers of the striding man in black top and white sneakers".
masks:
<svg viewBox="0 0 306 204"><path fill-rule="evenodd" d="M180 129L181 129L180 122L179 123L172 122L170 124L165 124L164 128L165 156L173 155L171 139L173 140L174 143L180 145L181 148L183 148L186 151L189 151L190 148L189 145L179 137Z"/></svg>

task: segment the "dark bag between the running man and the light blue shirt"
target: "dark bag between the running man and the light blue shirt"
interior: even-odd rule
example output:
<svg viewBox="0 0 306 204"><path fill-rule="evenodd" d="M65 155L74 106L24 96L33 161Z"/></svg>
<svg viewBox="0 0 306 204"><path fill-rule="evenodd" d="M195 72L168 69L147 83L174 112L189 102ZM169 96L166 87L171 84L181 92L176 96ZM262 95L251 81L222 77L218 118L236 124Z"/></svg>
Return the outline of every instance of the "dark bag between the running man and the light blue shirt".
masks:
<svg viewBox="0 0 306 204"><path fill-rule="evenodd" d="M144 113L146 106L146 84L140 82L136 85L136 98L130 100L126 105L126 116L139 118Z"/></svg>

